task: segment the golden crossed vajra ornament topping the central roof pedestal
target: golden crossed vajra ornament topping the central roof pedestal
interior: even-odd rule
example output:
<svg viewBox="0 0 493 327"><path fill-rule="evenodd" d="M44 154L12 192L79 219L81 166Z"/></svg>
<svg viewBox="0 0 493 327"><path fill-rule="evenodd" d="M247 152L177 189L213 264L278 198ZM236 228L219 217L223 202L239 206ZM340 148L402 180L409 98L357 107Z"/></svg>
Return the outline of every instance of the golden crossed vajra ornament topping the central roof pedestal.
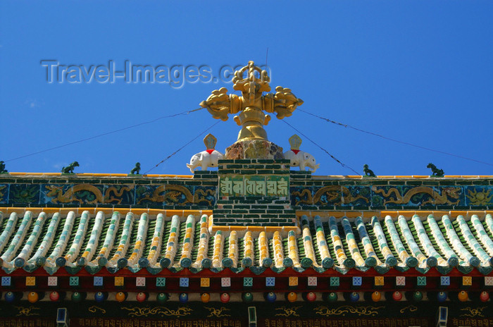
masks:
<svg viewBox="0 0 493 327"><path fill-rule="evenodd" d="M248 73L246 78L245 71ZM278 86L275 88L275 94L263 95L263 92L270 91L269 82L267 71L249 61L247 66L235 71L233 78L233 89L242 92L242 96L227 94L227 89L221 87L214 90L200 105L206 108L213 118L221 121L227 121L229 113L239 113L234 117L235 122L242 126L238 141L267 140L267 132L263 125L268 124L270 116L263 111L275 112L276 117L282 119L291 116L294 109L303 104L303 100L295 97L291 90L285 87Z"/></svg>

